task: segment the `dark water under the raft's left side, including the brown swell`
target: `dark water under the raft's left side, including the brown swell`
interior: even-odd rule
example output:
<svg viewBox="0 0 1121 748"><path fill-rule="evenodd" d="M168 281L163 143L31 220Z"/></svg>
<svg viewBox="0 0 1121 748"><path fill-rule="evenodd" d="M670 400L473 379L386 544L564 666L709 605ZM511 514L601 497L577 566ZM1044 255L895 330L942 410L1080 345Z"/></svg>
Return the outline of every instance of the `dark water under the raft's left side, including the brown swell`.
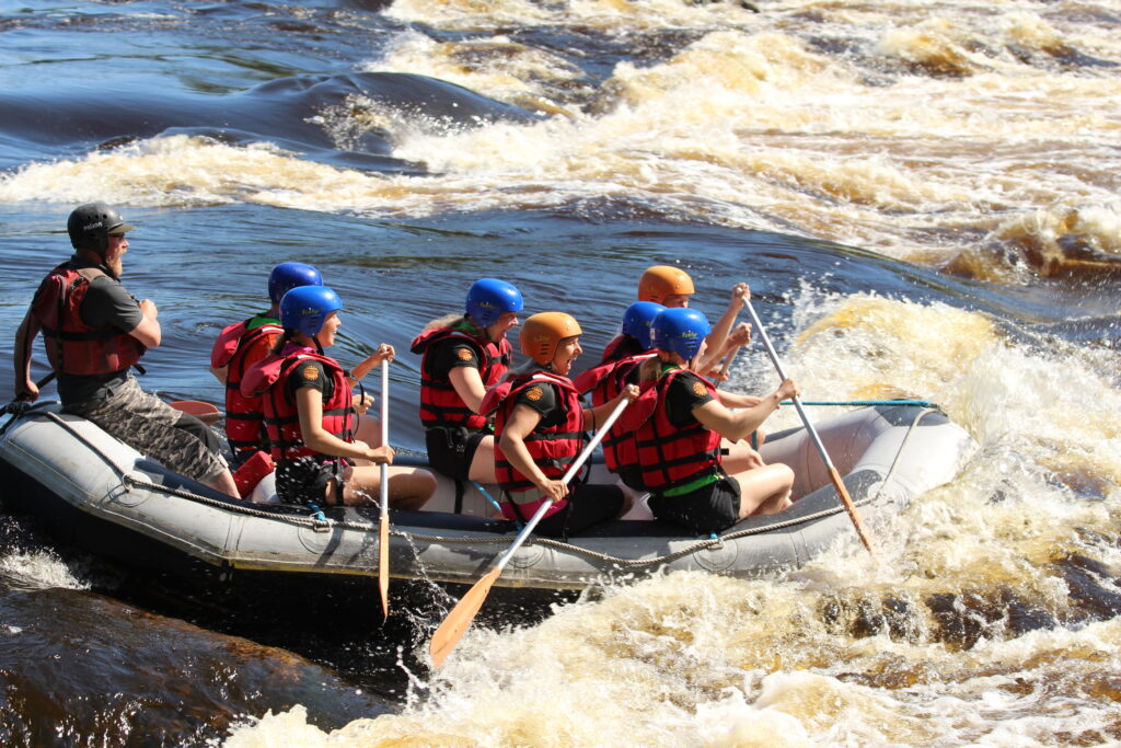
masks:
<svg viewBox="0 0 1121 748"><path fill-rule="evenodd" d="M183 576L53 546L0 517L0 552L62 563L91 590L0 573L0 741L203 745L268 711L316 727L395 711L427 640L466 588L393 581L381 618L373 576ZM478 626L529 626L575 595L495 590Z"/></svg>

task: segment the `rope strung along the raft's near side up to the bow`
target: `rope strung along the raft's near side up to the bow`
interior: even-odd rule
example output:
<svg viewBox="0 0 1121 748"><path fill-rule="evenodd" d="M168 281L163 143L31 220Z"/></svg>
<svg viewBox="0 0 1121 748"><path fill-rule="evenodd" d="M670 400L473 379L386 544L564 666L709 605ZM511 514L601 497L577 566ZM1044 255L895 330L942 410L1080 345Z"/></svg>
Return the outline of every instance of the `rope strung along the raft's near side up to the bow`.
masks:
<svg viewBox="0 0 1121 748"><path fill-rule="evenodd" d="M850 403L806 403L805 405L861 405L861 406L863 406L863 405L914 405L914 406L917 406L917 407L921 407L921 406L928 406L928 405L932 405L932 404L928 404L925 400L855 400L855 401L850 401ZM918 426L919 422L923 421L923 418L925 418L926 416L928 416L928 415L930 415L933 413L939 413L939 412L941 410L938 409L937 406L923 407L923 409L915 416L915 419L911 422L910 426L907 430L907 434L904 436L902 441L900 442L900 444L899 444L899 451L896 453L895 460L892 461L891 467L888 469L888 473L884 475L883 482L880 484L880 489L877 492L877 495L874 497L867 498L867 499L863 499L861 501L856 501L856 502L854 502L854 506L856 506L856 507L863 507L863 506L867 506L867 505L870 505L870 504L874 504L880 498L880 496L883 492L883 489L891 481L891 478L892 478L892 475L895 474L895 471L896 471L896 467L899 464L899 459L902 455L904 450L907 446L907 443L910 441L911 434L914 433L916 426ZM24 415L33 415L34 413L35 413L34 409L29 409L26 413L20 413L17 417L24 416ZM164 493L166 496L175 496L175 497L178 497L178 498L182 498L182 499L187 499L189 501L196 501L198 504L204 504L204 505L207 505L207 506L219 507L219 508L225 509L228 511L234 511L234 512L238 512L238 514L241 514L241 515L245 515L245 516L250 516L250 517L260 517L260 518L263 518L263 519L270 519L272 521L280 521L280 523L288 524L288 525L296 525L296 526L302 526L302 527L311 527L311 528L313 528L313 529L315 529L317 532L328 532L331 529L349 529L349 530L355 530L355 532L360 532L360 533L370 533L370 534L373 534L373 533L378 532L378 526L374 523L372 523L372 521L371 523L355 523L355 521L350 521L350 520L336 520L336 519L327 519L327 518L317 519L317 518L314 518L314 517L300 517L300 516L296 516L296 515L286 515L286 514L280 514L280 512L277 512L277 511L269 511L269 510L263 510L263 509L257 509L257 508L253 508L253 507L247 507L247 506L243 506L241 504L234 504L234 502L232 502L230 500L214 499L214 498L211 498L211 497L201 496L201 495L195 493L193 491L186 491L186 490L176 489L176 488L168 488L166 486L163 486L161 483L156 483L156 482L152 482L152 481L149 481L149 480L138 479L133 474L127 473L123 470L121 470L117 465L117 463L113 462L109 458L109 455L106 455L104 452L102 452L100 449L98 449L96 445L92 444L87 438L85 438L85 436L83 436L77 431L75 431L74 428L72 428L71 425L66 423L66 421L64 421L63 418L59 418L56 414L54 414L54 413L41 413L39 415L46 416L48 419L53 421L58 426L65 428L75 438L77 438L80 442L82 442L83 444L85 444L85 446L91 452L93 452L99 458L101 458L101 460L113 470L113 472L120 479L121 484L126 489L131 489L131 488L147 489L147 490L150 490L150 491L156 491L156 492L159 492L159 493ZM8 424L4 424L6 427L7 427L7 425ZM674 553L669 553L669 554L666 554L666 555L656 556L656 557L652 557L652 558L620 558L619 556L612 556L610 554L600 553L597 551L591 551L589 548L583 548L583 547L581 547L578 545L573 545L571 543L564 543L563 541L556 541L556 539L547 538L547 537L531 537L530 539L528 539L526 542L526 545L539 545L541 547L556 548L558 551L569 552L569 553L577 554L577 555L581 555L581 556L584 556L584 557L587 557L587 558L593 558L595 561L608 562L608 563L615 564L615 565L623 566L623 567L628 567L628 569L641 569L643 566L656 566L656 565L659 565L659 564L669 563L671 561L675 561L676 558L680 558L680 557L687 556L687 555L689 555L692 553L696 553L697 551L706 551L706 550L712 550L712 548L720 548L725 541L734 541L734 539L739 539L741 537L749 537L751 535L758 535L758 534L761 534L761 533L769 533L769 532L772 532L772 530L776 530L776 529L782 529L782 528L786 528L786 527L794 527L796 525L802 525L802 524L810 523L810 521L821 519L823 517L830 517L830 516L840 514L842 511L844 511L844 507L841 506L841 505L837 505L836 507L833 507L831 509L823 509L822 511L817 511L817 512L814 512L814 514L810 514L810 515L806 515L804 517L798 517L798 518L795 518L795 519L787 519L787 520L784 520L784 521L780 521L780 523L775 523L772 525L765 525L765 526L761 526L761 527L752 527L752 528L749 528L749 529L736 530L734 533L729 533L728 535L721 535L721 536L715 537L715 538L706 538L704 541L697 541L696 543L694 543L694 544L692 544L689 546L686 546L685 548L682 548L679 551L675 551ZM421 543L446 543L446 544L460 544L460 545L497 545L497 544L508 545L509 542L510 542L510 538L508 536L506 536L506 535L494 536L494 537L471 537L471 538L467 538L467 537L447 537L447 536L443 536L443 535L420 535L420 534L416 534L416 533L406 533L406 532L398 530L398 529L392 529L392 528L390 528L389 534L391 536L393 536L393 537L405 538L406 541L408 541L410 543L411 542L421 542Z"/></svg>

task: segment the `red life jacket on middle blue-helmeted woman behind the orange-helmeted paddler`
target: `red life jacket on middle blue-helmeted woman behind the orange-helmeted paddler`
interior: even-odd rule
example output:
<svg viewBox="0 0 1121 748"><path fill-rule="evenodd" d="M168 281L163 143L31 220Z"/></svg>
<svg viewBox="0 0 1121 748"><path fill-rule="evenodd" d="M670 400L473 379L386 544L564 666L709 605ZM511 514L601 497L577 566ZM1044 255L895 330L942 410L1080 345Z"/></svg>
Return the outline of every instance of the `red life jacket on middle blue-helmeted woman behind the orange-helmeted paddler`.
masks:
<svg viewBox="0 0 1121 748"><path fill-rule="evenodd" d="M510 368L513 348L506 338L494 343L488 338L471 335L462 330L436 327L426 330L413 341L414 353L423 353L420 361L420 423L425 428L434 426L464 426L472 431L489 428L490 419L467 407L450 380L434 379L429 371L428 353L437 341L456 339L471 345L479 358L479 376L483 387L493 387Z"/></svg>

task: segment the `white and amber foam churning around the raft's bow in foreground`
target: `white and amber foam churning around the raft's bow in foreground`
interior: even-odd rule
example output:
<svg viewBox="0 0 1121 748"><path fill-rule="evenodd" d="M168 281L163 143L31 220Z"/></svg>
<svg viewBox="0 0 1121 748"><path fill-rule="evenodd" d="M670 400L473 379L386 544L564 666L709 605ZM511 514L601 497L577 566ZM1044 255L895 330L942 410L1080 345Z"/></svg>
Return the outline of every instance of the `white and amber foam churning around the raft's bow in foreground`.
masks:
<svg viewBox="0 0 1121 748"><path fill-rule="evenodd" d="M1104 359L1017 342L938 303L797 303L812 323L784 353L795 378L813 370L842 399L927 395L980 442L956 480L874 527L882 566L853 534L782 575L676 573L538 626L478 626L400 714L308 745L1117 739L1121 619L1106 611L1121 600L1121 391ZM743 357L739 387L773 384L762 358ZM294 710L228 745L307 729Z"/></svg>

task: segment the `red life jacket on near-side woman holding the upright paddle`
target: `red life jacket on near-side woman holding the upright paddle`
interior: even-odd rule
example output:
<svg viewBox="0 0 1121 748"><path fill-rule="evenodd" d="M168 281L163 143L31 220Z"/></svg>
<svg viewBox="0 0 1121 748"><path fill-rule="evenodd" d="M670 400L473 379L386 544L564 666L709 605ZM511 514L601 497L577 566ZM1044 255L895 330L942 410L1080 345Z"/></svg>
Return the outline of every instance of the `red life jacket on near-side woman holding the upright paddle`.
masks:
<svg viewBox="0 0 1121 748"><path fill-rule="evenodd" d="M334 393L323 404L323 428L344 442L353 442L352 398L343 368L328 355L317 353L306 345L289 343L280 353L270 353L245 372L241 380L241 394L260 397L268 431L269 453L277 462L313 456L321 462L332 462L339 458L321 454L304 444L299 428L299 410L288 393L288 378L294 376L300 363L319 361L334 384ZM296 375L298 376L298 375Z"/></svg>

